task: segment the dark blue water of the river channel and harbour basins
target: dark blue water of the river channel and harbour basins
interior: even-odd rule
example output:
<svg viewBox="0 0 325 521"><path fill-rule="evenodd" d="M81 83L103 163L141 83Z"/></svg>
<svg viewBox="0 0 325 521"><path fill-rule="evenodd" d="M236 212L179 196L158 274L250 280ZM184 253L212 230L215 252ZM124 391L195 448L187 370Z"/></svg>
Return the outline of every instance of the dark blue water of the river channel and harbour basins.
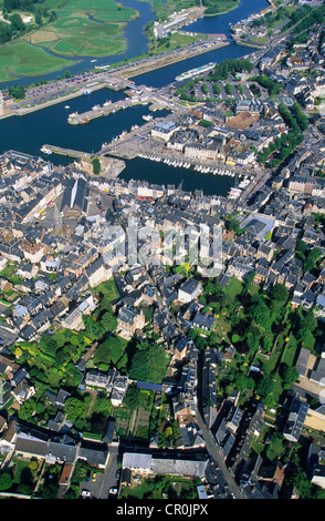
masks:
<svg viewBox="0 0 325 521"><path fill-rule="evenodd" d="M150 7L147 2L138 2L137 0L127 0L125 6L138 6L139 11L146 12L149 16ZM266 0L241 0L239 8L219 17L209 17L198 20L192 25L188 25L187 30L196 30L210 33L227 33L229 31L229 23L237 23L242 18L251 14L252 12L260 11L268 7ZM151 13L153 14L153 13ZM134 23L134 29L137 27L136 32L128 32L128 44L130 50L137 42L137 52L141 53L139 49L146 44L146 37L139 35L139 28L147 23L147 18L138 18L129 22L129 27ZM136 25L137 23L137 25ZM202 30L206 28L205 30ZM143 49L143 48L141 48ZM230 44L198 57L191 58L186 61L175 63L172 65L158 69L146 74L134 78L136 84L147 84L149 86L164 86L172 81L175 76L195 67L202 65L210 61L220 63L226 58L240 58L252 52L253 49ZM117 57L109 57L111 63L116 61ZM118 58L119 60L120 58ZM101 62L107 63L104 59ZM82 70L86 69L85 60ZM99 63L99 60L98 60ZM72 72L72 68L70 69ZM57 74L56 74L57 75ZM49 76L46 76L49 79ZM84 152L97 152L103 142L109 142L115 135L120 134L123 130L128 131L134 124L143 124L143 115L148 113L146 106L134 106L125 111L116 112L107 118L99 118L93 120L87 125L69 125L67 114L70 112L78 111L84 112L90 110L95 104L103 104L105 100L109 99L113 102L124 98L123 92L114 92L106 89L95 91L90 96L80 96L69 101L70 109L64 109L65 102L60 103L48 109L36 111L24 116L12 116L0 121L0 154L8 150L17 150L33 155L41 155L40 147L43 144L57 145L63 147L75 149ZM164 115L166 111L155 113L155 115ZM48 157L48 156L45 156ZM54 164L67 164L71 162L67 157L51 156ZM135 159L126 162L126 168L122 172L120 178L130 180L139 178L147 180L153 183L160 184L178 184L184 181L184 190L195 191L196 188L203 190L206 194L226 195L227 192L233 186L233 177L200 174L193 170L186 170L180 167L168 166L164 163L153 163L150 161Z"/></svg>

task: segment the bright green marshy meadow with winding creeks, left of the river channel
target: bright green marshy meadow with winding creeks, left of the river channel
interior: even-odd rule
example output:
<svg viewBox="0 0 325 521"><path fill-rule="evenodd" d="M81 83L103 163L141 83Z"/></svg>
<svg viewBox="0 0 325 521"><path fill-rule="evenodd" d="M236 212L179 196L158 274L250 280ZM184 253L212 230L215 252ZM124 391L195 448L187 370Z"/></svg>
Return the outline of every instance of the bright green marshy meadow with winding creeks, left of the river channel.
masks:
<svg viewBox="0 0 325 521"><path fill-rule="evenodd" d="M40 7L54 11L56 20L0 47L0 81L12 80L10 73L42 75L59 71L72 64L64 58L123 53L124 28L138 16L114 0L45 0Z"/></svg>

